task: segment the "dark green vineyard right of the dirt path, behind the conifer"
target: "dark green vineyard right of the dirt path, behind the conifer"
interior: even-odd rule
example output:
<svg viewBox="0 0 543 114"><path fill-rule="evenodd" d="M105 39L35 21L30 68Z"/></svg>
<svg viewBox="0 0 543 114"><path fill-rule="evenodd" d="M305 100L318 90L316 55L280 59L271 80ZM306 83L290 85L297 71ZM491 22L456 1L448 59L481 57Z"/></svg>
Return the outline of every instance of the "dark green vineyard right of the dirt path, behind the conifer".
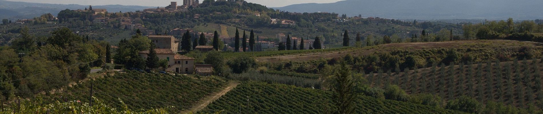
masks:
<svg viewBox="0 0 543 114"><path fill-rule="evenodd" d="M247 82L215 100L203 113L326 113L332 110L331 96L329 91ZM368 96L358 96L355 104L355 113L464 113Z"/></svg>

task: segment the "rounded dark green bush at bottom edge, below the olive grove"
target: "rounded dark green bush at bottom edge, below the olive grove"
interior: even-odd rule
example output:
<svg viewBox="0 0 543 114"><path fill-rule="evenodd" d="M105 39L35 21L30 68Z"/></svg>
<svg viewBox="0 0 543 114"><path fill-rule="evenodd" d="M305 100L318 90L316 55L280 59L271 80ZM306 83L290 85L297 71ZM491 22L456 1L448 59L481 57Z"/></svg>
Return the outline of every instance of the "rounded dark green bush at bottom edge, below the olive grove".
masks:
<svg viewBox="0 0 543 114"><path fill-rule="evenodd" d="M477 100L462 96L458 99L451 100L445 105L445 109L459 110L468 113L478 113L481 104Z"/></svg>

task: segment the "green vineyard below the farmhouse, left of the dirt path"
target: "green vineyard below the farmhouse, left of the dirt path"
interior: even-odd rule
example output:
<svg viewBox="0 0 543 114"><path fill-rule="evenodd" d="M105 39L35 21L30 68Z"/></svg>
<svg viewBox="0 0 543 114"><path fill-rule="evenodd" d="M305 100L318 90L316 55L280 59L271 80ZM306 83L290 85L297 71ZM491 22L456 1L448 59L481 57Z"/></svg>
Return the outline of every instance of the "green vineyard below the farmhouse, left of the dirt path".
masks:
<svg viewBox="0 0 543 114"><path fill-rule="evenodd" d="M199 99L219 91L227 83L214 77L193 79L158 73L127 72L80 83L63 90L67 92L47 96L58 101L88 102L91 82L94 83L94 97L115 108L121 108L118 102L120 98L134 110L176 106L173 111L190 108Z"/></svg>

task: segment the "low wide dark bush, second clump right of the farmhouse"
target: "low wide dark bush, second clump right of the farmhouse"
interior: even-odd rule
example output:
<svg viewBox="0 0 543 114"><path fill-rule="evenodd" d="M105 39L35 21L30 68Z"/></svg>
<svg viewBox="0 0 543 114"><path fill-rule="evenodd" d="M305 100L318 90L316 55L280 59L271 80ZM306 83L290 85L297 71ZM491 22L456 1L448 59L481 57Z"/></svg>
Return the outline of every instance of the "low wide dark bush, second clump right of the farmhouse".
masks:
<svg viewBox="0 0 543 114"><path fill-rule="evenodd" d="M236 59L228 61L228 66L232 69L233 73L247 72L250 68L256 65L255 59L249 56L241 56Z"/></svg>

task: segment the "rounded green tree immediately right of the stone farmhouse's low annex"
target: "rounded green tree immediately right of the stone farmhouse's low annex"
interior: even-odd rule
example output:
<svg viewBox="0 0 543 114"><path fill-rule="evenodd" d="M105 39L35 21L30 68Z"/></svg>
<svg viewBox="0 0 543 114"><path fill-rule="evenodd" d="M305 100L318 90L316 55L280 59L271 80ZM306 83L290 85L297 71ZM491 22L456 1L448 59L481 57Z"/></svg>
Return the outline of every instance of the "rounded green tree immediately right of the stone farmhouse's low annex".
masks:
<svg viewBox="0 0 543 114"><path fill-rule="evenodd" d="M219 52L209 52L204 59L205 64L211 64L213 66L213 73L215 75L223 75L224 69L224 57Z"/></svg>

